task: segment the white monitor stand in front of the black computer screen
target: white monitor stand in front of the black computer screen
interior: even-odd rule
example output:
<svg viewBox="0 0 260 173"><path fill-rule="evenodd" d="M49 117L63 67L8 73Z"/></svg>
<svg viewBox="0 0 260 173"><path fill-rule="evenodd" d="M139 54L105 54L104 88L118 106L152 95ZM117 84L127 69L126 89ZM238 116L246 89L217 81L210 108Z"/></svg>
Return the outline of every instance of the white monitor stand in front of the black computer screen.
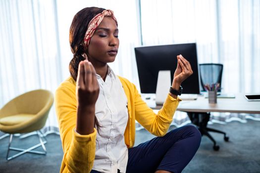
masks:
<svg viewBox="0 0 260 173"><path fill-rule="evenodd" d="M161 70L158 72L157 86L156 86L156 104L162 105L169 93L171 86L171 71Z"/></svg>

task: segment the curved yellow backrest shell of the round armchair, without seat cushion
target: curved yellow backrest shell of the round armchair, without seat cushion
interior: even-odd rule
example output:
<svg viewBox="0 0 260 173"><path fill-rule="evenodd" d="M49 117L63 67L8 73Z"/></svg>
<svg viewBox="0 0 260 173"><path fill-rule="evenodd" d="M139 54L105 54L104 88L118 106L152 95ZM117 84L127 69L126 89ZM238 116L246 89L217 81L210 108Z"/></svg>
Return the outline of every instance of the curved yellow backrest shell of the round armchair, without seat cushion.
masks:
<svg viewBox="0 0 260 173"><path fill-rule="evenodd" d="M42 129L52 103L53 94L45 89L32 90L13 98L0 109L0 118L17 114L33 114L34 116L28 121L12 126L0 124L0 130L6 133L27 133Z"/></svg>

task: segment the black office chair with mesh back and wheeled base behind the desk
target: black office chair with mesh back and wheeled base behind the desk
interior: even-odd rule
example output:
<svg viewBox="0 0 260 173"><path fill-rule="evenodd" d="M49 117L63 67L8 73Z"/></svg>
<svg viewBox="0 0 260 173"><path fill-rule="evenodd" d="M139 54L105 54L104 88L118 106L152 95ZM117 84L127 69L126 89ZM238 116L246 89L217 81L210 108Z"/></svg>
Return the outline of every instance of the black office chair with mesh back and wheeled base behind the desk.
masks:
<svg viewBox="0 0 260 173"><path fill-rule="evenodd" d="M200 66L201 85L202 85L203 91L206 91L206 89L204 88L205 84L219 83L220 87L219 87L218 91L220 92L223 65L222 64L200 64L199 66ZM208 121L210 118L210 112L207 112L207 113L187 112L187 114L188 114L191 122L198 127L201 134L202 135L205 134L206 136L208 136L208 138L214 143L213 149L215 151L219 150L219 146L216 145L216 141L208 133L208 131L222 133L222 134L224 134L224 140L225 141L229 140L229 137L226 135L225 132L207 127Z"/></svg>

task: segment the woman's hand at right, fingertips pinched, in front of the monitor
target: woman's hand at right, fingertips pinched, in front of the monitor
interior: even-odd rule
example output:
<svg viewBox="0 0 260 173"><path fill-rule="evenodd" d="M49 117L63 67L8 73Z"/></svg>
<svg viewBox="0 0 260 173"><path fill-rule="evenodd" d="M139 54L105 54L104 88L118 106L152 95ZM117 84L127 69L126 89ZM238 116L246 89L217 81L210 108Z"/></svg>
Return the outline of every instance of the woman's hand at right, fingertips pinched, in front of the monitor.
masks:
<svg viewBox="0 0 260 173"><path fill-rule="evenodd" d="M193 74L191 64L182 55L177 56L177 68L174 72L172 87L179 88L181 83Z"/></svg>

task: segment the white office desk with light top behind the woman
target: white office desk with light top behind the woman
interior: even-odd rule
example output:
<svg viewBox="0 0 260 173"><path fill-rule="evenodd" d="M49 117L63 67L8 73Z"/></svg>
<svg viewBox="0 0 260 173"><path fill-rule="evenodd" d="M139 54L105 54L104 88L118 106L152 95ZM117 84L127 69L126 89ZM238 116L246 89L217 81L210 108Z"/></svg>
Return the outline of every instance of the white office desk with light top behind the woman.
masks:
<svg viewBox="0 0 260 173"><path fill-rule="evenodd" d="M260 114L260 101L248 101L245 94L235 94L235 98L217 98L216 104L209 104L208 98L202 95L197 100L183 100L177 107L183 112L230 112ZM147 101L152 109L160 109L162 105L156 105L155 101Z"/></svg>

